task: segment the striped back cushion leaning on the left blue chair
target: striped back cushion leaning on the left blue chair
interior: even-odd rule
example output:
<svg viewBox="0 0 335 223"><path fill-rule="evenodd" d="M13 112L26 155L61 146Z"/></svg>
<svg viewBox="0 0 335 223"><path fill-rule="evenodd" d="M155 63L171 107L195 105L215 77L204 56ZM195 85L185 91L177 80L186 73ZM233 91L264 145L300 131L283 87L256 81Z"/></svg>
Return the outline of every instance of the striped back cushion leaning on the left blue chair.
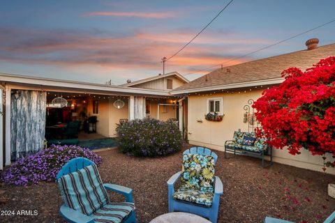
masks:
<svg viewBox="0 0 335 223"><path fill-rule="evenodd" d="M95 164L62 176L57 183L66 206L84 215L91 215L110 203Z"/></svg>

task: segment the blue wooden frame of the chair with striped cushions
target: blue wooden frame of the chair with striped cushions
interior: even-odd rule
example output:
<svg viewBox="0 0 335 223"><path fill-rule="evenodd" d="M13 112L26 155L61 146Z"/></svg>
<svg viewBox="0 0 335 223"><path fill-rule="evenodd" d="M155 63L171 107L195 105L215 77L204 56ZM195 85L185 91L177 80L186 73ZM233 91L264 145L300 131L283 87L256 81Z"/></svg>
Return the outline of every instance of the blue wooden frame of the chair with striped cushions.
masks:
<svg viewBox="0 0 335 223"><path fill-rule="evenodd" d="M70 162L65 164L64 167L61 168L61 170L57 174L56 180L59 180L59 178L61 178L62 176L66 176L67 174L79 171L84 167L89 167L90 165L94 165L94 162L88 160L87 158L84 157L74 158L73 160L70 160ZM98 178L100 178L100 176L98 176ZM124 197L126 197L126 202L133 203L133 190L131 188L111 183L104 183L103 187L105 187L106 190L110 190L124 195ZM61 206L61 208L59 208L59 213L61 217L63 217L64 220L66 220L66 222L86 222L86 223L95 222L94 217L84 215L79 210L73 210L72 208L66 206L65 203ZM122 222L135 223L136 222L135 210L132 210L131 213L129 213L122 220Z"/></svg>

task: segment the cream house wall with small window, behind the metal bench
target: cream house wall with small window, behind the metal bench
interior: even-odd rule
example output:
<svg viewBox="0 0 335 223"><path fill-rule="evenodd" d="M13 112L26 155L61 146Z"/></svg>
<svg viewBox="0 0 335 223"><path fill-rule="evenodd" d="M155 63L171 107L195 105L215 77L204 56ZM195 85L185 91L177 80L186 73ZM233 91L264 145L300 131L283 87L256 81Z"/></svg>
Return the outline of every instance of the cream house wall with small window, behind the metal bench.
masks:
<svg viewBox="0 0 335 223"><path fill-rule="evenodd" d="M216 93L212 95L188 96L188 139L190 144L207 146L218 151L224 151L226 140L231 140L235 130L248 130L248 123L243 122L244 105L249 99L257 100L262 90L247 91L246 93ZM207 113L208 98L223 98L223 121L212 122L204 119ZM198 122L198 121L202 121ZM332 156L327 154L327 160ZM319 155L311 155L305 149L301 149L300 155L290 155L287 150L273 149L274 162L288 164L304 169L322 171L323 160ZM224 162L224 158L223 158ZM327 173L335 174L334 168L328 168Z"/></svg>

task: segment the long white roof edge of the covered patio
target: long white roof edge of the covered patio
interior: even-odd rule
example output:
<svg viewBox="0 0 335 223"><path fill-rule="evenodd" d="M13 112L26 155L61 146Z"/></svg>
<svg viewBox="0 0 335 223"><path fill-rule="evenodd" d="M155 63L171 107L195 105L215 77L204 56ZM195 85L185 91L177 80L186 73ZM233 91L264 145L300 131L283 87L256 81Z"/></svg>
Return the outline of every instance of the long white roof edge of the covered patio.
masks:
<svg viewBox="0 0 335 223"><path fill-rule="evenodd" d="M128 88L125 86L110 86L106 84L92 84L88 82L75 82L63 79L51 79L43 77L31 77L24 75L12 75L0 73L0 82L27 86L27 88L78 91L87 93L117 94L117 95L153 95L168 96L168 92L151 89Z"/></svg>

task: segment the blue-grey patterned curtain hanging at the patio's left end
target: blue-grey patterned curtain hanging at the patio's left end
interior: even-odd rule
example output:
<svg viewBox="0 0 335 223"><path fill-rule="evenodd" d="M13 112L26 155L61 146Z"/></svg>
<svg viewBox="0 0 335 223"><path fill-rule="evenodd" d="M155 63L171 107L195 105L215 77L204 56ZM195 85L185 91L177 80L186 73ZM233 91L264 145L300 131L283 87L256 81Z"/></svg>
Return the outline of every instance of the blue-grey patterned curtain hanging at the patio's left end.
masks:
<svg viewBox="0 0 335 223"><path fill-rule="evenodd" d="M43 148L47 93L13 90L10 101L11 160L17 160Z"/></svg>

